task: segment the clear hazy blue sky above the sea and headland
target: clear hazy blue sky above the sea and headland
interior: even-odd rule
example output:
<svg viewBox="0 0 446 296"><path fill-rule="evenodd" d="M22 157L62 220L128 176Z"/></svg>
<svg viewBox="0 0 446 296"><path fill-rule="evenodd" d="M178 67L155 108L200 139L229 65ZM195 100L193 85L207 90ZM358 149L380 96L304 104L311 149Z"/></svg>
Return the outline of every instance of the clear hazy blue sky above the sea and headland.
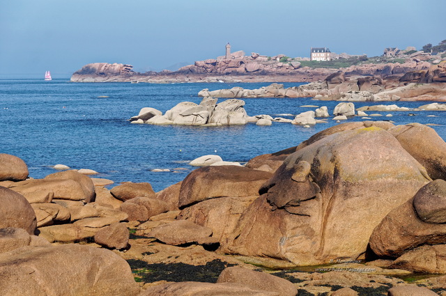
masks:
<svg viewBox="0 0 446 296"><path fill-rule="evenodd" d="M445 0L0 0L0 79L83 65L162 70L243 50L379 56L446 39Z"/></svg>

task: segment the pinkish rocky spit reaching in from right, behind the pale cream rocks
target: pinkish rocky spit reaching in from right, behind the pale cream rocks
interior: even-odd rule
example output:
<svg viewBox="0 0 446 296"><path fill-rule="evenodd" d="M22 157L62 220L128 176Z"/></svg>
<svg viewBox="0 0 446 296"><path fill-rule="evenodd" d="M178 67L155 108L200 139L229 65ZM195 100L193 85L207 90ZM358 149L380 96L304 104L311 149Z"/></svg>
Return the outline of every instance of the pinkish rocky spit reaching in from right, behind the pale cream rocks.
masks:
<svg viewBox="0 0 446 296"><path fill-rule="evenodd" d="M199 92L200 97L214 98L307 98L347 102L380 101L446 101L446 61L425 71L406 72L399 77L355 76L348 77L344 70L334 72L323 81L284 88L271 84L259 89L234 87Z"/></svg>

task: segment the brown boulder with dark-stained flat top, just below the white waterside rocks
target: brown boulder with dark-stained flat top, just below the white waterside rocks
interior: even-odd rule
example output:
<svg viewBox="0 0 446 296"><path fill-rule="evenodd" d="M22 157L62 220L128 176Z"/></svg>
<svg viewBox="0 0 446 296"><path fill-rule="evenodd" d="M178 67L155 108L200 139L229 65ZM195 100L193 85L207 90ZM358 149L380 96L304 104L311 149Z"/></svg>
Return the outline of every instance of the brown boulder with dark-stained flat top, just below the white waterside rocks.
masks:
<svg viewBox="0 0 446 296"><path fill-rule="evenodd" d="M244 166L203 166L183 180L179 208L222 196L255 196L271 173Z"/></svg>

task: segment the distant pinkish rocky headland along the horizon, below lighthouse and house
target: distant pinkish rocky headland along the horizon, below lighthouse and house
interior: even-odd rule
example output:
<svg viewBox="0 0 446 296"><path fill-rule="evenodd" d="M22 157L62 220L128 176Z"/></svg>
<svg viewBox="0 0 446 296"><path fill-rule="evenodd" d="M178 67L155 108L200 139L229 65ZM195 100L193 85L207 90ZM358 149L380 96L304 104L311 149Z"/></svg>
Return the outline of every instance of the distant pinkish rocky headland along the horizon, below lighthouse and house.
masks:
<svg viewBox="0 0 446 296"><path fill-rule="evenodd" d="M196 61L175 72L134 72L132 65L121 63L91 63L84 65L73 73L73 82L148 82L148 83L183 83L183 82L312 82L325 79L337 72L339 68L348 76L367 75L381 78L401 77L407 72L428 70L431 65L440 63L441 54L431 56L424 52L412 51L401 54L395 59L385 56L375 59L356 57L351 66L348 63L319 65L307 59L291 59L284 54L262 56L245 52L234 52L230 56L219 56L217 59ZM407 52L410 53L410 52ZM386 54L386 52L385 52ZM387 52L388 54L388 52ZM339 61L351 61L348 59ZM347 65L347 66L346 66ZM417 75L415 75L417 76ZM413 77L411 77L413 78Z"/></svg>

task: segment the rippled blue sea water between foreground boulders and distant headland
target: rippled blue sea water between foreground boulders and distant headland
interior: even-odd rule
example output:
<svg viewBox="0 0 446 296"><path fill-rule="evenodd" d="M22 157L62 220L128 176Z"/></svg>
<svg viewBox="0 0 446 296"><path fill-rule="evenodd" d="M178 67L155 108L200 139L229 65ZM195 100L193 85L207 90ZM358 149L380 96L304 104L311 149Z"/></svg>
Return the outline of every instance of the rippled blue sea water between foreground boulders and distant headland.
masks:
<svg viewBox="0 0 446 296"><path fill-rule="evenodd" d="M30 176L43 178L54 173L52 166L66 164L72 169L93 169L98 178L115 182L150 182L159 191L183 180L192 171L187 165L201 155L217 154L226 161L247 162L256 155L297 146L312 134L337 123L306 128L290 123L257 126L187 127L134 125L128 119L142 107L167 111L178 102L199 103L198 92L256 84L130 84L70 83L68 79L0 80L0 153L16 155L29 166ZM285 83L286 87L299 84ZM107 98L99 98L107 96ZM224 99L220 99L222 101ZM339 102L311 98L245 99L249 116L299 114L327 106L330 114ZM397 102L400 107L419 107L429 102ZM355 107L370 102L356 102ZM380 104L394 104L383 102ZM446 139L445 115L441 111L373 112L392 114L373 120L392 120L395 124L436 123L433 128ZM409 116L415 114L415 116ZM436 115L436 117L428 117ZM352 120L362 120L360 117ZM216 151L216 152L215 152ZM178 170L180 168L180 170ZM169 169L170 172L152 172ZM176 170L179 173L174 173Z"/></svg>

